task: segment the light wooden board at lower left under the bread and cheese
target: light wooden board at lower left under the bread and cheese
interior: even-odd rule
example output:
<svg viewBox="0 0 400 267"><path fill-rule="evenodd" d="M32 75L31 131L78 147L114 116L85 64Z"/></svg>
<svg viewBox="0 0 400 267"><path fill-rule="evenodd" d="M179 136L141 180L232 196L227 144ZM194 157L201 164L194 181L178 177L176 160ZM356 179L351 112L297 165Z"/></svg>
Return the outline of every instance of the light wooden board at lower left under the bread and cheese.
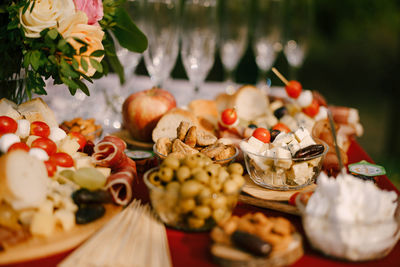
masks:
<svg viewBox="0 0 400 267"><path fill-rule="evenodd" d="M0 252L0 264L48 257L77 247L122 210L121 206L111 204L105 207L105 215L92 223L76 225L67 232L57 229L50 237L34 236L21 244L7 248L7 250Z"/></svg>

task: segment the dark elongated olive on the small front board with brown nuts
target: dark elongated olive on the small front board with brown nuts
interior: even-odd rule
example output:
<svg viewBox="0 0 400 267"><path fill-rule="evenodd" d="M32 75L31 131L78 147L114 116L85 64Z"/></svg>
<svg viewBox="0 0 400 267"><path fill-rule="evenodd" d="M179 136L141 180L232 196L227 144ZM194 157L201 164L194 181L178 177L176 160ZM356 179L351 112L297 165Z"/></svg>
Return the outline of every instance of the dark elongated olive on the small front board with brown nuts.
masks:
<svg viewBox="0 0 400 267"><path fill-rule="evenodd" d="M243 231L233 232L231 239L235 246L256 256L268 256L272 249L269 243L258 236Z"/></svg>

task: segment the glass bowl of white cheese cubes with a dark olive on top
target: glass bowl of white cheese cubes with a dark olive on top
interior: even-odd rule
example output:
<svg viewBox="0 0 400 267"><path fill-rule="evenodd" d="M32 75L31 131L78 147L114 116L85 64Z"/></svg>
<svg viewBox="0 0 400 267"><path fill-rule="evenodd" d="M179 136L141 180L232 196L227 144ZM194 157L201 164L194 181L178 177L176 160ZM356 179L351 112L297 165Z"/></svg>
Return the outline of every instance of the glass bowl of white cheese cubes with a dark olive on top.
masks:
<svg viewBox="0 0 400 267"><path fill-rule="evenodd" d="M250 179L261 187L282 191L298 190L314 183L329 147L322 140L313 140L315 144L299 150L300 153L294 156L290 151L282 152L286 149L284 146L274 148L268 144L271 152L255 153L248 145L241 145ZM286 156L279 156L278 151Z"/></svg>

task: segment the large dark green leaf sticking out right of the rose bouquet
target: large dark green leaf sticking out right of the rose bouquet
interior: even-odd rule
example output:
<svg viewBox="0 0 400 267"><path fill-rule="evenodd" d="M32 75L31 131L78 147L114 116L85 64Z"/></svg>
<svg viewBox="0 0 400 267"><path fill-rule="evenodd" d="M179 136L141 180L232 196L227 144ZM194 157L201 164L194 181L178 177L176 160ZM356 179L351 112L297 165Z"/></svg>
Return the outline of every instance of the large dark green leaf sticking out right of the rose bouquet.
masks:
<svg viewBox="0 0 400 267"><path fill-rule="evenodd" d="M133 23L125 9L119 7L115 11L113 33L122 47L129 51L143 53L147 48L147 38Z"/></svg>

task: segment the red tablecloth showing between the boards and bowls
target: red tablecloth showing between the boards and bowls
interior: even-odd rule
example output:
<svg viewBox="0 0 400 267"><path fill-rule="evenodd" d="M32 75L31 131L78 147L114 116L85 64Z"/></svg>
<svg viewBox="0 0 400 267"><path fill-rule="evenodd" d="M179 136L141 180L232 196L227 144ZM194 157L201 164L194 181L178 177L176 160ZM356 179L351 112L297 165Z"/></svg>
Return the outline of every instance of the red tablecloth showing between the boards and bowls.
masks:
<svg viewBox="0 0 400 267"><path fill-rule="evenodd" d="M357 142L352 142L349 151L349 163L358 162L361 160L367 160L368 162L373 162L372 159L365 153L365 151L360 147ZM378 177L379 187L387 190L395 190L397 194L399 191L393 186L386 176ZM143 201L148 201L148 194L145 185L142 182L135 187L135 196L142 199ZM294 266L349 266L349 265L362 265L362 266L400 266L400 242L397 243L393 251L384 259L377 261L369 261L362 263L351 263L345 261L339 261L336 259L328 258L321 253L310 248L305 236L304 231L301 226L300 217L287 215L284 213L271 211L267 209L261 209L253 207L247 204L239 203L235 208L234 213L241 215L247 212L260 211L267 215L272 216L283 216L294 223L297 230L303 234L304 256L298 260ZM209 246L211 243L209 233L186 233L182 231L173 230L167 228L167 235L169 241L169 248L172 257L172 263L175 267L206 267L206 266L217 266L213 263L211 254L209 252ZM24 262L20 264L14 264L10 266L55 266L63 258L65 258L71 251L67 251L52 257L39 259L31 262Z"/></svg>

